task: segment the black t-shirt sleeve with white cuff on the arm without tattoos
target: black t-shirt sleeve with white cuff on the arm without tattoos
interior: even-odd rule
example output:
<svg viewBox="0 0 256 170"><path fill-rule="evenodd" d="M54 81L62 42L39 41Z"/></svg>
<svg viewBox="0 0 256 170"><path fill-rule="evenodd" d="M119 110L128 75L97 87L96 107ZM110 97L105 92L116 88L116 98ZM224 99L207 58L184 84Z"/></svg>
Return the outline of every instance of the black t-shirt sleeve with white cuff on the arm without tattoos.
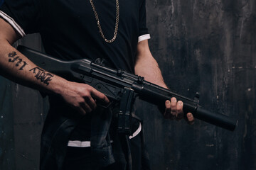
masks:
<svg viewBox="0 0 256 170"><path fill-rule="evenodd" d="M149 38L149 31L146 27L146 0L142 0L142 4L139 8L139 41Z"/></svg>

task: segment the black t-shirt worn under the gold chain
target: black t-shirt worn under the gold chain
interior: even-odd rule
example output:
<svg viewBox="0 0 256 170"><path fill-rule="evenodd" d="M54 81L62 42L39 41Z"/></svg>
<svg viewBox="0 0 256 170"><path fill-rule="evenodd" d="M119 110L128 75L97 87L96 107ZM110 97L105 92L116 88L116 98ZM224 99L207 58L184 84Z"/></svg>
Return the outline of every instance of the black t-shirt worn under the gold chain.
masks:
<svg viewBox="0 0 256 170"><path fill-rule="evenodd" d="M105 37L114 35L116 1L94 0ZM48 54L63 60L103 58L110 67L134 72L138 37L147 34L145 0L119 0L117 38L107 43L90 1L5 0L0 7L28 33L40 33Z"/></svg>

